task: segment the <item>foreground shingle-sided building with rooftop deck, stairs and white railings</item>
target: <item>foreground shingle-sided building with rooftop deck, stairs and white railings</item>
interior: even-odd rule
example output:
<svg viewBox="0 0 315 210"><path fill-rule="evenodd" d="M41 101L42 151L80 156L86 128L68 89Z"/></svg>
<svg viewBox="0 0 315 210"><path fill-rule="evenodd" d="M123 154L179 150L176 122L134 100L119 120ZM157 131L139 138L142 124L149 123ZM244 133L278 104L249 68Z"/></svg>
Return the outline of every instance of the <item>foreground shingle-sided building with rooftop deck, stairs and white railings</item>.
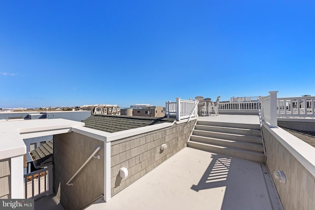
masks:
<svg viewBox="0 0 315 210"><path fill-rule="evenodd" d="M311 110L282 109L296 100L313 104ZM315 97L277 98L272 91L259 101L260 109L234 108L258 115L200 117L196 101L177 98L166 102L165 118L0 121L0 198L55 193L64 209L89 210L313 209L315 148L278 123L315 131ZM225 107L231 109L227 104L219 112ZM24 176L23 139L47 134L53 167ZM44 178L48 188L33 195L28 186L43 187L36 183ZM45 199L35 206L47 205Z"/></svg>

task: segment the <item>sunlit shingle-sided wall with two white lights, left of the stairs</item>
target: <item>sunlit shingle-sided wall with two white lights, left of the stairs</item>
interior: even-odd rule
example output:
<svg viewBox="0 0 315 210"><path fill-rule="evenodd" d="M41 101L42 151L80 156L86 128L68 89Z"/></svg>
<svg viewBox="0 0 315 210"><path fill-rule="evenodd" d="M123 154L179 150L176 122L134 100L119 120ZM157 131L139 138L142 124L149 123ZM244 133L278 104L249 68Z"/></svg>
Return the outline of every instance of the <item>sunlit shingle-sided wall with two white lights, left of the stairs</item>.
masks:
<svg viewBox="0 0 315 210"><path fill-rule="evenodd" d="M135 180L153 170L160 163L187 146L195 120L172 127L111 142L111 194L123 190ZM160 146L166 144L166 150ZM128 177L121 180L119 170L128 169Z"/></svg>

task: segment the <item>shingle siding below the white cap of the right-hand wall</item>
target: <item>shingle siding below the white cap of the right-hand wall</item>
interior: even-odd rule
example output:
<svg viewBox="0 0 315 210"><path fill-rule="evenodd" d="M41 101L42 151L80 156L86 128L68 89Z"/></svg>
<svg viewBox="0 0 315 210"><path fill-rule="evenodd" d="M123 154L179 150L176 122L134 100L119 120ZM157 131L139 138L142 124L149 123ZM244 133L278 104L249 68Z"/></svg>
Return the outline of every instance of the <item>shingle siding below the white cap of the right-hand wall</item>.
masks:
<svg viewBox="0 0 315 210"><path fill-rule="evenodd" d="M284 210L313 210L314 176L265 128L267 166L272 174ZM283 170L286 183L275 180L273 172Z"/></svg>

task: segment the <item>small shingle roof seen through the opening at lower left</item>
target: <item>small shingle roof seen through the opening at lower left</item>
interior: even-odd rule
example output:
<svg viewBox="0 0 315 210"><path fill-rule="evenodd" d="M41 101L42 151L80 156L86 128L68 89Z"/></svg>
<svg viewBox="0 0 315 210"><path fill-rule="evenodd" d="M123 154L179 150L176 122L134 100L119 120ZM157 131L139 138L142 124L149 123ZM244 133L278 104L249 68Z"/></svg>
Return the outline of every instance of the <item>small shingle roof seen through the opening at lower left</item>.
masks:
<svg viewBox="0 0 315 210"><path fill-rule="evenodd" d="M53 139L42 144L35 150L30 151L35 168L41 168L52 164L53 151L54 151Z"/></svg>

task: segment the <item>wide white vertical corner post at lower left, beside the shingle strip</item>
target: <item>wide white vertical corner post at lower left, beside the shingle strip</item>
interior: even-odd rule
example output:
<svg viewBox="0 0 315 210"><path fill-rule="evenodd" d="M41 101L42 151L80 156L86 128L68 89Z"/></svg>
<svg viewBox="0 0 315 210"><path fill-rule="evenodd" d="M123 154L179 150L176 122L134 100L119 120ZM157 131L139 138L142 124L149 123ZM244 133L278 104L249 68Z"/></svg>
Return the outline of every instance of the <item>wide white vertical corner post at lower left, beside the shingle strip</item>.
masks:
<svg viewBox="0 0 315 210"><path fill-rule="evenodd" d="M24 199L23 155L11 157L11 199Z"/></svg>

